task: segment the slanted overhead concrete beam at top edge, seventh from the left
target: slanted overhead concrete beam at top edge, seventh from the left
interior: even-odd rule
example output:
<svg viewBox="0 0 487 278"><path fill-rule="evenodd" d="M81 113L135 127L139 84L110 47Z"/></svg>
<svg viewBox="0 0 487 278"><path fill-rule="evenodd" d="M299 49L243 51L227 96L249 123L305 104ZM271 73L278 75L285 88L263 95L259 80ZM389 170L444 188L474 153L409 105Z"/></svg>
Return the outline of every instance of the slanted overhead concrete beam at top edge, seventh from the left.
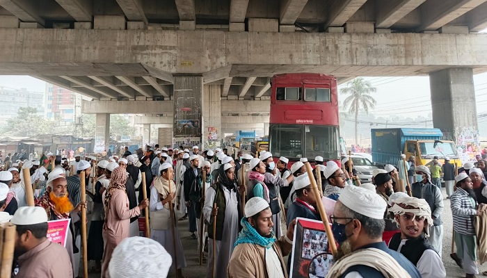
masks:
<svg viewBox="0 0 487 278"><path fill-rule="evenodd" d="M367 0L338 0L329 1L331 3L328 9L328 17L325 22L325 28L340 27L347 22Z"/></svg>

